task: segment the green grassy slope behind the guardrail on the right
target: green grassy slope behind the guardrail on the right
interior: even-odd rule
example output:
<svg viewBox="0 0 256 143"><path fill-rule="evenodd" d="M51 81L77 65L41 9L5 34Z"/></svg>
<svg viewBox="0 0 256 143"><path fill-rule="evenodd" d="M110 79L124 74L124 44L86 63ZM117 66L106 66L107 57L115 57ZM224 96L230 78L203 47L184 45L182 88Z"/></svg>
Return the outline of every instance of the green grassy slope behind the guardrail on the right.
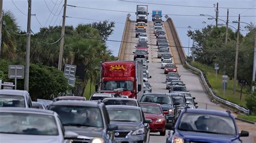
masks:
<svg viewBox="0 0 256 143"><path fill-rule="evenodd" d="M208 65L204 65L199 62L191 62L191 65L193 67L196 67L198 69L201 69L204 71L208 82L211 84L212 90L217 94L218 96L227 99L228 101L231 101L235 104L239 104L242 106L246 106L245 102L245 97L250 94L247 92L249 87L243 87L242 89L242 98L240 100L240 90L241 86L238 85L235 95L233 95L233 80L227 80L227 89L225 89L225 96L223 95L223 87L222 87L222 74L217 75L217 80L216 80L216 70Z"/></svg>

